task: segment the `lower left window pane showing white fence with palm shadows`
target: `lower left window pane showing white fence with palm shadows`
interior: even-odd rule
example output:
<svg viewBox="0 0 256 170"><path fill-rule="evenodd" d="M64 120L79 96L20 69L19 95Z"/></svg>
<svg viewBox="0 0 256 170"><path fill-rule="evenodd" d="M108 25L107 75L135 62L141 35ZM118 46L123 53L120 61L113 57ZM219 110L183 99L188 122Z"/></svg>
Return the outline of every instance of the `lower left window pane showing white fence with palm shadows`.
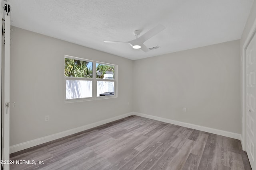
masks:
<svg viewBox="0 0 256 170"><path fill-rule="evenodd" d="M66 99L92 97L92 81L66 80Z"/></svg>

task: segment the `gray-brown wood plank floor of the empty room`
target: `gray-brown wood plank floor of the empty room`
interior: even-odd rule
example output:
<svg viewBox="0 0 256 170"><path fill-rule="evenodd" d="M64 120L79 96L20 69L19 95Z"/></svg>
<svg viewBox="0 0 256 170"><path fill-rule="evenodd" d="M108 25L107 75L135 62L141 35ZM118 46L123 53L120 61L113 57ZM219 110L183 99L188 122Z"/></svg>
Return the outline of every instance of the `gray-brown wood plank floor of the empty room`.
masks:
<svg viewBox="0 0 256 170"><path fill-rule="evenodd" d="M10 160L36 163L10 170L251 170L239 140L138 116L13 153Z"/></svg>

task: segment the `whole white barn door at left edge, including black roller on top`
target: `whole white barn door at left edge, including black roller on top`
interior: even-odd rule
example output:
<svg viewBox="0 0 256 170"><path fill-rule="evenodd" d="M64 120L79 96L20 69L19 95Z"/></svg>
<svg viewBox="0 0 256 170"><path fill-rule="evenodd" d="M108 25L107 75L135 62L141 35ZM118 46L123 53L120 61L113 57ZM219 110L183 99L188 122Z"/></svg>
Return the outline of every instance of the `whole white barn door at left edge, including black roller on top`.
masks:
<svg viewBox="0 0 256 170"><path fill-rule="evenodd" d="M3 1L1 1L3 2ZM9 170L10 159L10 6L8 0L4 1L2 8L2 168Z"/></svg>

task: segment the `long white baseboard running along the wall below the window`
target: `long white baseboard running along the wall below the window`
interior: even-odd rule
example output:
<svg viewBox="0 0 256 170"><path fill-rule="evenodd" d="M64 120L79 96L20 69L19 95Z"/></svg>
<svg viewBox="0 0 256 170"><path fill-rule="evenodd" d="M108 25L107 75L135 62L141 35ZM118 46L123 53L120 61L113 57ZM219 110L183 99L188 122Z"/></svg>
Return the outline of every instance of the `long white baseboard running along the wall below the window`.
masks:
<svg viewBox="0 0 256 170"><path fill-rule="evenodd" d="M70 130L67 130L67 131L60 132L60 133L55 133L55 134L52 134L52 135L48 135L48 136L45 136L45 137L41 137L41 138L38 138L38 139L27 141L27 142L24 142L24 143L19 143L17 145L12 145L12 146L10 146L10 153L18 152L18 151L23 150L23 149L28 149L28 148L34 147L36 145L40 145L40 144L43 144L43 143L46 143L46 142L53 141L55 139L59 139L59 138L62 138L62 137L66 137L68 135L72 135L74 133L78 133L78 132L81 132L81 131L85 131L87 129L91 129L93 127L104 125L105 123L109 123L111 121L116 121L118 119L128 117L132 114L133 114L133 112L126 113L126 114L123 114L123 115L119 115L119 116L116 116L116 117L112 117L112 118L109 118L109 119L105 119L105 120L102 120L102 121L91 123L89 125L76 127L74 129L70 129Z"/></svg>

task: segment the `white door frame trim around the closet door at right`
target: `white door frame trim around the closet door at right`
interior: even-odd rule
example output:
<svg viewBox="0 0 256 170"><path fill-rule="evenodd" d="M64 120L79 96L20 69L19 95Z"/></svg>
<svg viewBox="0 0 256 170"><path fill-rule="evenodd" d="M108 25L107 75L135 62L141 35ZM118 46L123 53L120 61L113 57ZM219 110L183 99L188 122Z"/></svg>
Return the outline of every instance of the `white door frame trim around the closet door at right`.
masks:
<svg viewBox="0 0 256 170"><path fill-rule="evenodd" d="M256 33L256 18L252 27L246 37L246 40L242 47L242 57L241 57L241 68L242 68L242 136L241 136L241 143L242 149L246 151L246 49L252 40L254 34Z"/></svg>

